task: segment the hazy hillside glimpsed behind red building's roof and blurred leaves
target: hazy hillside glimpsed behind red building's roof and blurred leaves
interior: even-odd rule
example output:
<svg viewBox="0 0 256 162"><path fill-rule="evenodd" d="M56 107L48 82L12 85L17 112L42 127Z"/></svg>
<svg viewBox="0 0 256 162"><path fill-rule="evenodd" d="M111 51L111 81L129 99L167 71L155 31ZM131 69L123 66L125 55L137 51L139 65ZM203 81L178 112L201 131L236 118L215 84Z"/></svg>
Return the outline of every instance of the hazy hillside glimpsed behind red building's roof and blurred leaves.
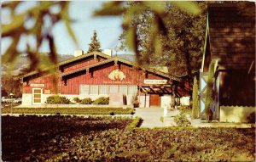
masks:
<svg viewBox="0 0 256 162"><path fill-rule="evenodd" d="M115 56L115 55L113 55ZM131 54L119 54L117 55L118 57L122 59L126 59L129 61L135 61L135 55ZM60 54L58 55L58 62L65 61L67 59L73 58L72 54ZM20 56L20 59L15 64L15 68L12 72L13 75L19 75L20 72L24 69L26 69L29 66L29 59L26 56ZM4 75L8 70L8 65L7 64L2 64L2 75Z"/></svg>

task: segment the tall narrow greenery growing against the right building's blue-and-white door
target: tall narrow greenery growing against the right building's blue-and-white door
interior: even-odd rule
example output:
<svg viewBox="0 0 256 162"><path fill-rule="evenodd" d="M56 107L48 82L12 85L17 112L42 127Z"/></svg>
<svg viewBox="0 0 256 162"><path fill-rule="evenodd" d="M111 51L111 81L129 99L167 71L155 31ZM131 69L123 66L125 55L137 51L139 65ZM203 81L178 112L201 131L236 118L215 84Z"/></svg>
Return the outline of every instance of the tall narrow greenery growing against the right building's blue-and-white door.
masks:
<svg viewBox="0 0 256 162"><path fill-rule="evenodd" d="M214 82L214 63L213 61L209 65L209 72L207 78L207 96L206 96L206 108L205 114L207 116L207 121L210 120L212 115L212 104L213 104L213 82Z"/></svg>

